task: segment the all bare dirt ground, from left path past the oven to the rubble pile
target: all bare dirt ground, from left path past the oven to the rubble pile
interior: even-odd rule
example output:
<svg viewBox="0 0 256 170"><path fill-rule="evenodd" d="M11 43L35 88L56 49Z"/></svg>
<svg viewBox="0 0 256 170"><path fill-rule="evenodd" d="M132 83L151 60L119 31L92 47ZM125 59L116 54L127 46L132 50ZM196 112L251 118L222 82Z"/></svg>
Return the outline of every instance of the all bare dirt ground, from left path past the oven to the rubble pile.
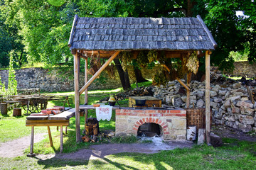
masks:
<svg viewBox="0 0 256 170"><path fill-rule="evenodd" d="M213 126L211 132L220 137L230 137L238 140L256 142L256 135L245 134L233 128L225 126ZM46 133L36 134L34 142L43 140ZM22 137L17 140L0 143L0 157L18 157L23 156L23 152L30 146L31 137ZM68 154L40 154L38 159L97 159L106 155L117 154L121 152L139 152L152 154L161 150L170 150L175 148L192 147L193 142L152 142L152 143L132 143L132 144L102 144L92 145L89 149L80 149L78 152Z"/></svg>

